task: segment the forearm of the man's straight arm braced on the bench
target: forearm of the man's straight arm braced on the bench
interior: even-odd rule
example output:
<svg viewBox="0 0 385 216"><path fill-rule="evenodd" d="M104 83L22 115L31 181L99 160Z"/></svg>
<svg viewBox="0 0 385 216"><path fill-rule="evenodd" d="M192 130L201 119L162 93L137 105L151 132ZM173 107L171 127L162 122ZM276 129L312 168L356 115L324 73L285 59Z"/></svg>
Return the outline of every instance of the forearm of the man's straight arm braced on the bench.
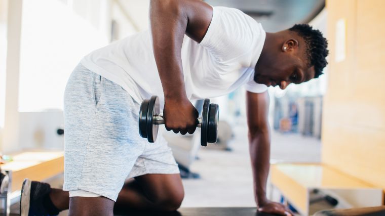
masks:
<svg viewBox="0 0 385 216"><path fill-rule="evenodd" d="M249 131L249 151L253 169L255 201L266 202L266 181L270 168L270 129Z"/></svg>

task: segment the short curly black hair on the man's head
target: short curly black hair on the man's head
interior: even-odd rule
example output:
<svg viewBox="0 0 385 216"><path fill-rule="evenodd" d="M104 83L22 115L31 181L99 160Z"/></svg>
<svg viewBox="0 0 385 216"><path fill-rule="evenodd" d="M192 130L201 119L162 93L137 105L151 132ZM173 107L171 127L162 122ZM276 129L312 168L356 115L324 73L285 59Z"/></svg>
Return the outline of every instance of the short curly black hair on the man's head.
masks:
<svg viewBox="0 0 385 216"><path fill-rule="evenodd" d="M323 37L321 31L313 29L308 24L295 24L289 28L296 32L306 42L306 55L309 59L309 66L314 66L314 78L322 74L322 70L328 64L326 56L329 54L328 41Z"/></svg>

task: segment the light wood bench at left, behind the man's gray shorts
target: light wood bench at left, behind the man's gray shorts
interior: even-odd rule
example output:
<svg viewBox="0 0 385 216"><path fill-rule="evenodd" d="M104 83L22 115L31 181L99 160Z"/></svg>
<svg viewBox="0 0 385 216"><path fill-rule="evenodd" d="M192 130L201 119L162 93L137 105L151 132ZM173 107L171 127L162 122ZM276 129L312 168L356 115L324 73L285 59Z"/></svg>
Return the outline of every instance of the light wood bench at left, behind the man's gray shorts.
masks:
<svg viewBox="0 0 385 216"><path fill-rule="evenodd" d="M0 166L12 170L12 192L21 189L25 178L42 181L64 171L63 152L22 152L13 155L13 161Z"/></svg>

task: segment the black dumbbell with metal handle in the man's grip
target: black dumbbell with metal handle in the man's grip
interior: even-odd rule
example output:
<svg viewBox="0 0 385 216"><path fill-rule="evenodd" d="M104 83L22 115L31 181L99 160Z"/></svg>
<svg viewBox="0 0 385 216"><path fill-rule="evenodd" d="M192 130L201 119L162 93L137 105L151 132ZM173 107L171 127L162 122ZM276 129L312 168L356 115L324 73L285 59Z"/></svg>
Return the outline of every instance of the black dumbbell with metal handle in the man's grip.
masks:
<svg viewBox="0 0 385 216"><path fill-rule="evenodd" d="M176 118L177 116L169 116ZM198 119L197 127L201 127L201 145L215 143L218 139L218 104L210 104L210 99L203 103L202 117ZM164 118L160 114L159 98L152 96L149 100L143 100L139 110L139 135L153 143L158 136L159 124L164 124Z"/></svg>

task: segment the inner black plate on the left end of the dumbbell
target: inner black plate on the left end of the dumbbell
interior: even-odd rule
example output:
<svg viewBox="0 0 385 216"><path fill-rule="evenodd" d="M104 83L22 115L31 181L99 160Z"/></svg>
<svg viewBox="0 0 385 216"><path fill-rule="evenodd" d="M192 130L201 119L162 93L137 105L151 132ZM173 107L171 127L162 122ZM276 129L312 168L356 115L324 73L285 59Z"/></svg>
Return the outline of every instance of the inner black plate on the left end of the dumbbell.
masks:
<svg viewBox="0 0 385 216"><path fill-rule="evenodd" d="M158 137L158 124L152 123L152 117L159 114L159 98L158 96L152 96L148 103L148 112L147 112L147 140L150 143L153 143L157 140Z"/></svg>

